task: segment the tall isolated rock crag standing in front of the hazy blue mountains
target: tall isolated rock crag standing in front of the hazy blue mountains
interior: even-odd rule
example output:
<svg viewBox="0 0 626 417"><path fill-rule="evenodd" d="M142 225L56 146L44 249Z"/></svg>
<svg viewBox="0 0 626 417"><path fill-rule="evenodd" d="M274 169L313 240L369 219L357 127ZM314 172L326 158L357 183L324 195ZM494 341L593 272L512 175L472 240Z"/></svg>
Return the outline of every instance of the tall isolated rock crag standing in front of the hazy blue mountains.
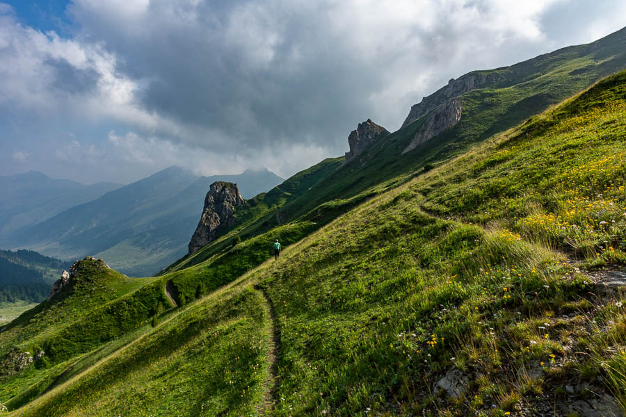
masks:
<svg viewBox="0 0 626 417"><path fill-rule="evenodd" d="M236 220L232 215L235 207L244 202L246 200L239 194L237 184L223 181L212 183L207 197L204 197L200 222L189 242L189 254L198 252L214 240L223 229L234 226Z"/></svg>

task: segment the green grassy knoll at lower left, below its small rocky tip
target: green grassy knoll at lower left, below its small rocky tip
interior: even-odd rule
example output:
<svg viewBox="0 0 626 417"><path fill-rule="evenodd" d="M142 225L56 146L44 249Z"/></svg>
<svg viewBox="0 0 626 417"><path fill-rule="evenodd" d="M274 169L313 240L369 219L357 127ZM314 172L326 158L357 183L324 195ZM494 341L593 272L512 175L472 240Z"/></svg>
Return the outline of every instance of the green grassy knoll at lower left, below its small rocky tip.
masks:
<svg viewBox="0 0 626 417"><path fill-rule="evenodd" d="M72 358L150 321L166 300L160 286L129 279L98 261L83 260L74 286L22 313L0 332L0 357L10 350L46 352L26 373L6 377L0 364L0 398L41 393ZM138 289L139 288L139 289ZM165 308L161 308L163 311Z"/></svg>

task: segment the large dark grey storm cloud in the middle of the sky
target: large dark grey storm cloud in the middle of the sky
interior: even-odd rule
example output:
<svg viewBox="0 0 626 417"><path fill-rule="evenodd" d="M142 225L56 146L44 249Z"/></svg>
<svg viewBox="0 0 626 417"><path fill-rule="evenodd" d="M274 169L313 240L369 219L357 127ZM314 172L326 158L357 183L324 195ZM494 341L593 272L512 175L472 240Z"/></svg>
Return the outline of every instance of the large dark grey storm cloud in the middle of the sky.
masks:
<svg viewBox="0 0 626 417"><path fill-rule="evenodd" d="M180 11L169 3L151 1L143 13L123 15L141 29L115 33L107 24L113 12L80 3L71 10L89 22L86 36L106 38L107 49L124 58L118 70L145 80L136 96L142 108L229 138L198 144L259 149L315 140L336 147L337 136L373 116L368 97L381 88L375 70L385 65L383 54L360 56L343 33L349 22L330 27L323 7L201 2Z"/></svg>

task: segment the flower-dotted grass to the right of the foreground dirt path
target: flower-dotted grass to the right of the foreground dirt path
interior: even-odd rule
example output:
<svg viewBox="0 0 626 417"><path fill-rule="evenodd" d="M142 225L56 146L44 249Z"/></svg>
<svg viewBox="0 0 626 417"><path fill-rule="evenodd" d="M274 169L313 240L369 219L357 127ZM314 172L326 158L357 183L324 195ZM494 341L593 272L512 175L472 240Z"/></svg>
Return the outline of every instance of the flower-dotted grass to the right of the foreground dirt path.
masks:
<svg viewBox="0 0 626 417"><path fill-rule="evenodd" d="M603 81L534 124L362 204L258 272L282 334L284 400L276 414L348 416L369 408L415 415L447 407L487 414L492 404L504 413L515 398L542 391L544 383L529 378L533 368L544 373L546 363L572 359L568 332L579 332L572 343L581 343L599 316L611 332L623 311L597 299L580 303L593 288L563 252L622 259L625 85L626 73ZM545 229L524 228L529 216L555 207L571 213L577 200L565 184L595 208L578 213L579 227L595 231L561 228L554 240ZM578 311L578 323L556 319L572 308L591 312ZM585 349L597 354L576 362L610 367L610 389L623 401L623 355L607 354L621 352L623 333L606 341L607 327L597 326ZM453 367L476 383L465 400L442 407L431 387ZM577 375L559 368L548 375ZM596 375L583 380L602 386ZM488 386L501 387L489 403L481 394Z"/></svg>

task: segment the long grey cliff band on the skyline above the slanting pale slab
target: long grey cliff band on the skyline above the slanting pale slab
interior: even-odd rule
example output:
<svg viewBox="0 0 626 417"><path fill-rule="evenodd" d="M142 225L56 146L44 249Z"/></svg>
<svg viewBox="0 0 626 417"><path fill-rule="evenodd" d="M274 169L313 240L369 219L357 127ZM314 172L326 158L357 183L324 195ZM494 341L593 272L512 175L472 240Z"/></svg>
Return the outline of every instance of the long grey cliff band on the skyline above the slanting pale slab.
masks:
<svg viewBox="0 0 626 417"><path fill-rule="evenodd" d="M451 79L448 85L433 92L428 97L424 97L422 101L411 107L411 110L404 120L402 127L415 122L433 109L441 106L449 99L464 95L470 90L481 88L486 84L491 84L499 79L499 74L493 72L470 72L459 79Z"/></svg>

